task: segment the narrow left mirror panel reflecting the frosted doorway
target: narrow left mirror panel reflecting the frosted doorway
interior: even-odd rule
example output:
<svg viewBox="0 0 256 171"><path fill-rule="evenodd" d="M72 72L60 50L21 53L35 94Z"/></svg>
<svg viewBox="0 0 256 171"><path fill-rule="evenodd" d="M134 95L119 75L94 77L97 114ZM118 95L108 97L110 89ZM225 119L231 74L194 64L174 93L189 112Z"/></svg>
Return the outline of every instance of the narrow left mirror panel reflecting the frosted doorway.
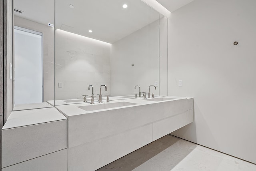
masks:
<svg viewBox="0 0 256 171"><path fill-rule="evenodd" d="M54 0L14 0L13 110L52 107Z"/></svg>

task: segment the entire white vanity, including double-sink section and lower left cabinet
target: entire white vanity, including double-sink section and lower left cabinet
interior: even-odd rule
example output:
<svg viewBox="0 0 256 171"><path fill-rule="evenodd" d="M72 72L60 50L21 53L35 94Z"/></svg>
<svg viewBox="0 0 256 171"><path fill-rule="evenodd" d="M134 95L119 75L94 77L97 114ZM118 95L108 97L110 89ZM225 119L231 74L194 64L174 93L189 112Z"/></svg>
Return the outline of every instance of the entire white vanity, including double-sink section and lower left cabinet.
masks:
<svg viewBox="0 0 256 171"><path fill-rule="evenodd" d="M193 122L193 103L187 97L127 96L14 111L2 130L3 171L43 171L45 165L47 170L99 169Z"/></svg>

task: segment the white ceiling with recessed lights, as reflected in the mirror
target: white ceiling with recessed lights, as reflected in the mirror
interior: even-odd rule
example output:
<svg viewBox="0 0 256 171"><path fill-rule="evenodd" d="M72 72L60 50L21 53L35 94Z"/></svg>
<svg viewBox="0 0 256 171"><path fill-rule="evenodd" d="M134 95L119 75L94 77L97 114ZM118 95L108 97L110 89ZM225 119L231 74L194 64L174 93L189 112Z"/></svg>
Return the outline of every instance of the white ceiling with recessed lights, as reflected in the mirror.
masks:
<svg viewBox="0 0 256 171"><path fill-rule="evenodd" d="M69 8L69 4L74 8ZM128 8L122 8L127 4ZM55 0L55 28L113 43L158 20L141 0ZM54 0L14 0L15 15L54 24ZM89 33L88 30L92 30Z"/></svg>

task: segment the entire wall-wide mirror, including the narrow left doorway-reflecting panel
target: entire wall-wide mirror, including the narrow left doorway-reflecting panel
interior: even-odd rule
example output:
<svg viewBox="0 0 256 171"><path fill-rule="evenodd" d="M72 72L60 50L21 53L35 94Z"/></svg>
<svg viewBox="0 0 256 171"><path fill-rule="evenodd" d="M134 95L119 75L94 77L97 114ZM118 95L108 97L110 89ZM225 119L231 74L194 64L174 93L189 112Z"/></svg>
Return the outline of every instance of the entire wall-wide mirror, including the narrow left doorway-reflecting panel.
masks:
<svg viewBox="0 0 256 171"><path fill-rule="evenodd" d="M167 95L167 18L142 0L14 0L14 25L13 110L83 103L89 85Z"/></svg>

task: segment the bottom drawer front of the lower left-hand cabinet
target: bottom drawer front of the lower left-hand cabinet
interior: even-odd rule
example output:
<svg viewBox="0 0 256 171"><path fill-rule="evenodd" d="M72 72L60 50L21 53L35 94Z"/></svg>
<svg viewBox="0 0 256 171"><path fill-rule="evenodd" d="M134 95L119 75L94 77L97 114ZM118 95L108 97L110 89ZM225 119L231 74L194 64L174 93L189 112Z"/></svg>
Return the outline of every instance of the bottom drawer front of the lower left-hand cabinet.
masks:
<svg viewBox="0 0 256 171"><path fill-rule="evenodd" d="M67 171L68 170L68 149L43 155L35 159L11 165L2 171Z"/></svg>

